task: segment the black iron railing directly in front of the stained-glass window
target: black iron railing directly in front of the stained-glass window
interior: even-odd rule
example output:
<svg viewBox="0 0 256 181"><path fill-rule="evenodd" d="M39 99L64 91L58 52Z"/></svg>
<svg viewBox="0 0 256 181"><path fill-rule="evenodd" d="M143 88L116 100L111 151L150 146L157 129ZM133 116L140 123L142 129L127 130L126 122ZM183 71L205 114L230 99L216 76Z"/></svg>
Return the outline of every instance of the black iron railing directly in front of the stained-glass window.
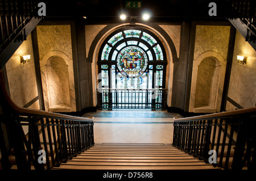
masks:
<svg viewBox="0 0 256 181"><path fill-rule="evenodd" d="M102 109L166 109L167 89L98 89Z"/></svg>

